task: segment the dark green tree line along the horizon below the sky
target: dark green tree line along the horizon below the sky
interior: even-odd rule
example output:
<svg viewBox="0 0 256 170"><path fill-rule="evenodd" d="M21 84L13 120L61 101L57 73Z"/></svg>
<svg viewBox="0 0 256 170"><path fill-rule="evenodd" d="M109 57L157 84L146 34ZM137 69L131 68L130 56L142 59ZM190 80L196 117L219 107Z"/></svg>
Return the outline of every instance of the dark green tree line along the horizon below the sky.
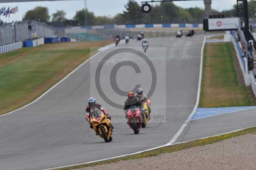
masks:
<svg viewBox="0 0 256 170"><path fill-rule="evenodd" d="M249 17L255 17L256 0L248 2ZM217 11L212 9L212 14L224 14L225 17L236 17L236 5L230 10ZM52 16L49 15L47 7L38 6L26 12L23 20L37 20L49 23L53 26L92 26L92 25L125 25L125 24L148 24L148 23L202 23L204 9L176 6L172 2L162 2L152 6L151 12L145 14L141 6L135 0L128 0L125 10L114 17L96 16L87 9L77 11L73 19L67 19L66 12L58 10ZM85 17L87 18L85 20ZM51 19L51 20L50 20Z"/></svg>

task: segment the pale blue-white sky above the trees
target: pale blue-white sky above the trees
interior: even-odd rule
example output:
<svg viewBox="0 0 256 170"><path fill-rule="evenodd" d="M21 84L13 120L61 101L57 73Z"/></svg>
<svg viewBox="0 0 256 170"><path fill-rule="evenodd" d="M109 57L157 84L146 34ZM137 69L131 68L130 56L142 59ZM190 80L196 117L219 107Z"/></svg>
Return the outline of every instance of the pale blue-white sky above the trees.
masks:
<svg viewBox="0 0 256 170"><path fill-rule="evenodd" d="M136 0L138 3L143 0ZM113 17L117 13L122 13L125 9L124 5L128 0L87 0L87 8L89 11L94 12L96 16L107 15ZM203 0L194 1L181 1L175 2L177 6L182 6L183 8L189 7L200 7L204 8ZM236 0L212 0L212 9L217 9L219 11L224 9L231 9L232 6L236 4ZM35 8L35 6L46 6L49 9L49 14L56 12L57 10L64 10L68 19L73 18L76 11L84 8L84 0L65 0L65 1L41 1L41 2L24 2L24 3L0 3L0 8L2 7L14 7L18 6L19 12L14 17L22 20L23 15L26 11Z"/></svg>

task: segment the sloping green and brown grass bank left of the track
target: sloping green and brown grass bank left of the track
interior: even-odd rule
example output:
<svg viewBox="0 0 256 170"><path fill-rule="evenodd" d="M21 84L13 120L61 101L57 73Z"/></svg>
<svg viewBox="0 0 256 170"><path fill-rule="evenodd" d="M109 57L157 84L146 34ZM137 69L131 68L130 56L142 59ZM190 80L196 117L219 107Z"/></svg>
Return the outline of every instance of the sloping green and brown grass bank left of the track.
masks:
<svg viewBox="0 0 256 170"><path fill-rule="evenodd" d="M0 55L0 115L35 100L111 41L45 44Z"/></svg>

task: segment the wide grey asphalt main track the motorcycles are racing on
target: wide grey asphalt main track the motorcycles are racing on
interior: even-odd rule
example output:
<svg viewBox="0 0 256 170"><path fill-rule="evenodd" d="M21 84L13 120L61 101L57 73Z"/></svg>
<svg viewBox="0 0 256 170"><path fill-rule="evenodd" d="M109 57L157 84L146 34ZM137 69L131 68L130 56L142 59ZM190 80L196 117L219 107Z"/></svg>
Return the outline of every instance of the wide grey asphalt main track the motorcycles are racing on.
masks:
<svg viewBox="0 0 256 170"><path fill-rule="evenodd" d="M131 40L100 52L46 95L26 108L0 117L0 167L4 170L40 170L79 164L134 153L168 143L191 114L198 91L201 47L204 35L194 37L148 38L145 53L156 70L156 88L151 96L152 118L138 135L126 124L122 109L102 99L96 89L95 72L102 58L115 49L131 48L143 52L141 41ZM123 61L123 62L121 62ZM132 61L140 68L122 66L116 74L118 87L130 91L141 84L151 86L151 71L137 55L120 53L105 62L100 82L105 95L117 104L125 96L112 89L113 66ZM113 141L105 143L85 120L87 99L96 97L112 115ZM163 116L157 118L157 115Z"/></svg>

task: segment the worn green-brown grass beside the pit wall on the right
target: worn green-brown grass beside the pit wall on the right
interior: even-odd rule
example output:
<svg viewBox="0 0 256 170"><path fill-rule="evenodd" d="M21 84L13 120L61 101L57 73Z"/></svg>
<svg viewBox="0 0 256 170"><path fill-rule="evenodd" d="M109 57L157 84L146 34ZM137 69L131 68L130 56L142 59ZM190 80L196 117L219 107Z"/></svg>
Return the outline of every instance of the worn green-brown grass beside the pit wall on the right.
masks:
<svg viewBox="0 0 256 170"><path fill-rule="evenodd" d="M206 43L199 107L255 106L232 43Z"/></svg>

